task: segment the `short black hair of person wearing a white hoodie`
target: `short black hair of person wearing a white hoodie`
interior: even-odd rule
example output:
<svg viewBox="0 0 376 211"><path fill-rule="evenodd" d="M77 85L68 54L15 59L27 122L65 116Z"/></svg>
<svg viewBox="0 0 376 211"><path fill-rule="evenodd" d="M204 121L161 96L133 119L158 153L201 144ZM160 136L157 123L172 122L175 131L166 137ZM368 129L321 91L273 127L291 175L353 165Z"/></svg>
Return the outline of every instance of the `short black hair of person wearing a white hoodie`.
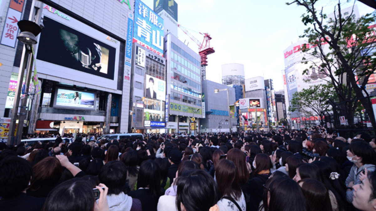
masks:
<svg viewBox="0 0 376 211"><path fill-rule="evenodd" d="M113 160L106 163L99 172L98 179L108 187L108 194L120 194L127 184L127 170L124 163Z"/></svg>

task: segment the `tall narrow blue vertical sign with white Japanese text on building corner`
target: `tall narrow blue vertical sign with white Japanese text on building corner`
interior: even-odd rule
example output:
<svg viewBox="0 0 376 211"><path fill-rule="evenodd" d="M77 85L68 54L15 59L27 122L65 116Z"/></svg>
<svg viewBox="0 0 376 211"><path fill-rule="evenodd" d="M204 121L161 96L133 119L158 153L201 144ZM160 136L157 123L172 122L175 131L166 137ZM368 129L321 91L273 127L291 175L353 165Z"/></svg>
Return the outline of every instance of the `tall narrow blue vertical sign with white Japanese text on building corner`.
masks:
<svg viewBox="0 0 376 211"><path fill-rule="evenodd" d="M130 68L132 62L133 14L128 15L127 43L125 47L124 80L130 81Z"/></svg>

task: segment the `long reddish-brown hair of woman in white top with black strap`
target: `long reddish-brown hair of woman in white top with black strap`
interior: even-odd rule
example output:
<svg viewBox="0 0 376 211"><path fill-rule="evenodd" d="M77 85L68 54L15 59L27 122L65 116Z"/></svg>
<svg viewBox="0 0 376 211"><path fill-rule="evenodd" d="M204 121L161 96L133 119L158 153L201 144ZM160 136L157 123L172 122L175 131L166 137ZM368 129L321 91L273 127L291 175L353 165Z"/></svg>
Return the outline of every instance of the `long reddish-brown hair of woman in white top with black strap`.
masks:
<svg viewBox="0 0 376 211"><path fill-rule="evenodd" d="M235 164L227 159L218 161L215 167L215 178L218 185L218 197L230 196L235 200L241 197L239 174Z"/></svg>

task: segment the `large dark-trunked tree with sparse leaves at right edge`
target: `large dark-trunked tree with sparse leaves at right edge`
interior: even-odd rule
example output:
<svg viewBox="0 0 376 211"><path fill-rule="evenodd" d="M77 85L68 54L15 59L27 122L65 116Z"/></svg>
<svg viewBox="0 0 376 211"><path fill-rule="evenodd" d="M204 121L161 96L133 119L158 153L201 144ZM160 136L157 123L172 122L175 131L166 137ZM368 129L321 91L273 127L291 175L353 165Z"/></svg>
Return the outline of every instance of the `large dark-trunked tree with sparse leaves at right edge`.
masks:
<svg viewBox="0 0 376 211"><path fill-rule="evenodd" d="M372 104L364 97L368 95L365 85L376 68L376 25L373 25L376 13L366 14L358 19L353 16L353 12L345 16L338 1L334 8L336 15L328 19L323 14L323 8L315 8L317 1L294 0L287 3L306 8L306 13L301 16L302 22L311 26L300 36L308 38L308 44L302 50L317 60L308 61L309 58L303 58L303 62L310 62L320 74L330 78L328 82L338 95L341 113L347 116L349 125L354 123L354 112L360 101L373 128L376 128ZM310 48L312 46L314 48ZM329 50L324 50L326 46L329 46Z"/></svg>

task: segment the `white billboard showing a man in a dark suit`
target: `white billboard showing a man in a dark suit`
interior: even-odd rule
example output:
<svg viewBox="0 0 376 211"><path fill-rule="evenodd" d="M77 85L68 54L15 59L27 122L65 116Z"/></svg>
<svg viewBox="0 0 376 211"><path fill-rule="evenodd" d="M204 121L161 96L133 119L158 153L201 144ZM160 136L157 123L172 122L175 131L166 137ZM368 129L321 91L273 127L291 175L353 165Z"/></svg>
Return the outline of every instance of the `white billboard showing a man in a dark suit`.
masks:
<svg viewBox="0 0 376 211"><path fill-rule="evenodd" d="M145 96L147 98L159 99L165 101L166 82L151 75L145 75Z"/></svg>

